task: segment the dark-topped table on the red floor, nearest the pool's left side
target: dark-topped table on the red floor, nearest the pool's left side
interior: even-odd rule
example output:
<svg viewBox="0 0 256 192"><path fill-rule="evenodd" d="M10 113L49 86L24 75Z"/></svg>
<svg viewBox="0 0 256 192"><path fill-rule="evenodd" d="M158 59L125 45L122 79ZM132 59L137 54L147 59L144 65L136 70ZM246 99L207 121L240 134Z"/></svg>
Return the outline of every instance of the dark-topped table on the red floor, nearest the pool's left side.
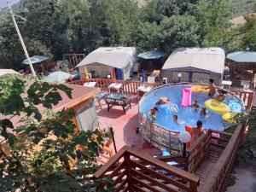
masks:
<svg viewBox="0 0 256 192"><path fill-rule="evenodd" d="M110 93L106 96L105 101L108 105L108 112L110 108L113 106L121 106L123 108L124 113L126 113L125 108L131 108L131 101L133 96L125 93Z"/></svg>

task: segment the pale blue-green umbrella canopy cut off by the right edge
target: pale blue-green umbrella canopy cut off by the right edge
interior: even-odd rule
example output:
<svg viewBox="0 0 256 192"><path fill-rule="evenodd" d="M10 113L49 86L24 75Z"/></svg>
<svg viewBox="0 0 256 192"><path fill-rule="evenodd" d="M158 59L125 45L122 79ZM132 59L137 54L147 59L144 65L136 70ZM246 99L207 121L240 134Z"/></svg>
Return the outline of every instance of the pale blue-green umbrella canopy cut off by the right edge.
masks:
<svg viewBox="0 0 256 192"><path fill-rule="evenodd" d="M237 51L227 55L227 58L236 62L256 62L256 52Z"/></svg>

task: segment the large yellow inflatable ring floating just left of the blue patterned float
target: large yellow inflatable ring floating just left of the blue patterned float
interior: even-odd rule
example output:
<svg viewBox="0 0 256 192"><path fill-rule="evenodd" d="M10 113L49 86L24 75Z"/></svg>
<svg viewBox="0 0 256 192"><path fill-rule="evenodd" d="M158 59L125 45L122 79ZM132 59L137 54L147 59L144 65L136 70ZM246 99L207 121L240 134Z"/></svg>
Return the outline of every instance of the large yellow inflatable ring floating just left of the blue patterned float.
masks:
<svg viewBox="0 0 256 192"><path fill-rule="evenodd" d="M224 114L230 112L230 107L223 102L218 102L215 99L209 99L205 102L206 108L211 109L215 113Z"/></svg>

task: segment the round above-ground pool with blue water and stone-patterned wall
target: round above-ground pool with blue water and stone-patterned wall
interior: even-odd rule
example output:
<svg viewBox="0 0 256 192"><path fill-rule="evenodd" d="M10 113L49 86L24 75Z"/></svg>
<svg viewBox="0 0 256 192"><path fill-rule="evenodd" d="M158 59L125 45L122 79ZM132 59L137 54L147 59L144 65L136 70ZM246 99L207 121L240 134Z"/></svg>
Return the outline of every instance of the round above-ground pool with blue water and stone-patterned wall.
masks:
<svg viewBox="0 0 256 192"><path fill-rule="evenodd" d="M149 143L152 143L155 146L156 144L153 143L155 142L154 140L158 143L157 140L161 140L161 137L165 137L163 140L166 140L166 142L161 141L161 145L166 143L164 144L166 147L170 145L170 142L173 139L175 140L174 143L178 143L178 133L180 131L185 131L186 125L195 127L197 120L202 121L203 129L217 131L224 131L233 125L231 122L223 119L224 113L221 110L216 113L210 108L207 108L207 116L204 117L201 115L201 108L205 107L205 102L212 99L208 96L206 91L192 92L191 102L193 104L195 100L198 100L200 105L198 111L195 111L192 107L182 107L183 89L191 88L193 86L195 86L195 84L167 84L151 90L148 94L143 96L139 102L140 125L141 129L144 131L144 138L148 140ZM216 96L218 96L217 90ZM157 102L160 97L167 97L170 103L155 105L155 102ZM232 108L233 103L236 104L236 108ZM221 105L223 107L230 106L232 108L231 112L233 110L236 111L237 107L241 111L244 110L243 102L230 92L226 94ZM154 106L159 108L160 111L156 112L156 121L152 123L152 118L148 110L154 108ZM221 109L226 110L227 108ZM178 117L178 123L173 120L173 115L175 114ZM158 145L156 147L160 148Z"/></svg>

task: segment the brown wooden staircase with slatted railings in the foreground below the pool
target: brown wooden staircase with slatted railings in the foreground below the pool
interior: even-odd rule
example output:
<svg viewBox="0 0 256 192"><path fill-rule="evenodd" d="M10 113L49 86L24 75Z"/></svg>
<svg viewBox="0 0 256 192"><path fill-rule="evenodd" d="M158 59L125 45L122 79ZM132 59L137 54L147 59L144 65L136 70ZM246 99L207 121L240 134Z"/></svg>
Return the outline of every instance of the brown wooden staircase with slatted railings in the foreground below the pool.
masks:
<svg viewBox="0 0 256 192"><path fill-rule="evenodd" d="M221 192L243 132L243 125L238 125L232 134L210 130L188 148L186 158L153 158L124 147L94 177L113 178L116 192ZM171 161L177 162L177 165L168 165Z"/></svg>

